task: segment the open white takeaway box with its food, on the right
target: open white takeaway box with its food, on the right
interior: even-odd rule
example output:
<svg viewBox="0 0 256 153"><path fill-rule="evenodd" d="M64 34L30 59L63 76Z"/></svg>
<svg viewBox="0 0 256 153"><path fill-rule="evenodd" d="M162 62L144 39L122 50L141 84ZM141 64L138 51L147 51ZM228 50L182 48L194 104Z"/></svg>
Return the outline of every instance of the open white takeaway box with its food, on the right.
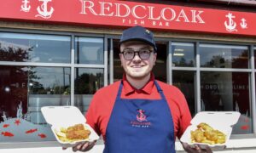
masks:
<svg viewBox="0 0 256 153"><path fill-rule="evenodd" d="M202 111L191 120L191 125L180 139L184 143L207 145L212 150L223 150L230 139L232 126L240 116L236 111Z"/></svg>

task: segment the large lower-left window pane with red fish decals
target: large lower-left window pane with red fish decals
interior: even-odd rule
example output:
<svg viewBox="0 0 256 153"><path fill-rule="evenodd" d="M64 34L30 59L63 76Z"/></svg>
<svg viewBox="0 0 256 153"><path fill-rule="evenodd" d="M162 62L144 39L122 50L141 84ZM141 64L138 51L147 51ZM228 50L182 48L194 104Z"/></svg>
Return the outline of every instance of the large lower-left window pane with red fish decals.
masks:
<svg viewBox="0 0 256 153"><path fill-rule="evenodd" d="M70 68L0 66L0 142L55 140L40 111L70 105Z"/></svg>

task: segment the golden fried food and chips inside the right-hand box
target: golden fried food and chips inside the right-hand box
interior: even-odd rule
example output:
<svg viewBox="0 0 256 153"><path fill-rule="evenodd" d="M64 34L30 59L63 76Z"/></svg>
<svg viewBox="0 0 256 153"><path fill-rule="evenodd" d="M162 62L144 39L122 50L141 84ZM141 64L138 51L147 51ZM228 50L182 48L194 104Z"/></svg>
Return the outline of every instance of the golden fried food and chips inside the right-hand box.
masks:
<svg viewBox="0 0 256 153"><path fill-rule="evenodd" d="M192 143L206 143L206 144L224 144L226 135L218 130L213 129L205 122L197 125L195 131L191 131Z"/></svg>

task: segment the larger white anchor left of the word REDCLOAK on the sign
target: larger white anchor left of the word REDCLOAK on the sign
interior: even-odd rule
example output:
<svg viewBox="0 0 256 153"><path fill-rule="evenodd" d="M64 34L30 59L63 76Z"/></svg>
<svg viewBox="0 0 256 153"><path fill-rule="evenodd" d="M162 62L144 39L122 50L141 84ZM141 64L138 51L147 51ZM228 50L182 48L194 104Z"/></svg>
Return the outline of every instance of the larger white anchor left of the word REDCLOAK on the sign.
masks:
<svg viewBox="0 0 256 153"><path fill-rule="evenodd" d="M54 8L50 8L50 10L48 11L47 8L47 3L51 2L51 0L39 0L41 2L44 2L41 7L38 7L38 14L36 15L36 17L40 16L44 19L49 19L51 17L51 14L53 13L53 11L55 10Z"/></svg>

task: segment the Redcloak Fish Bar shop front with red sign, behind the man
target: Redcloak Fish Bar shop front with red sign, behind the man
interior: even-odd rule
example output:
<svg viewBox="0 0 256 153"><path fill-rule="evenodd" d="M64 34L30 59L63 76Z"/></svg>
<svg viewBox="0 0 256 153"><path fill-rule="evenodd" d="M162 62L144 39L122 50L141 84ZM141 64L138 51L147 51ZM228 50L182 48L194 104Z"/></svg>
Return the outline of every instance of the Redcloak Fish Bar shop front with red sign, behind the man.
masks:
<svg viewBox="0 0 256 153"><path fill-rule="evenodd" d="M122 77L119 36L137 25L154 31L155 77L183 91L193 116L241 113L224 152L256 150L256 13L118 0L9 0L0 9L1 152L63 152L41 107L85 113Z"/></svg>

